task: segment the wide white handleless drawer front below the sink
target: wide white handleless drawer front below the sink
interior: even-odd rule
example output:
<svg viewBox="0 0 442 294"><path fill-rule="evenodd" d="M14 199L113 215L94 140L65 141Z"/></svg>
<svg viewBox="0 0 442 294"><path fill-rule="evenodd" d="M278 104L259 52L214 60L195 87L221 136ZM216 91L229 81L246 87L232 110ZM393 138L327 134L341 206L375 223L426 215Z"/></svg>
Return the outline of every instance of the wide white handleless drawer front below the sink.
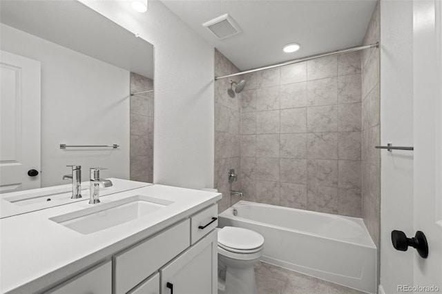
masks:
<svg viewBox="0 0 442 294"><path fill-rule="evenodd" d="M190 219L113 256L113 293L126 293L190 246Z"/></svg>

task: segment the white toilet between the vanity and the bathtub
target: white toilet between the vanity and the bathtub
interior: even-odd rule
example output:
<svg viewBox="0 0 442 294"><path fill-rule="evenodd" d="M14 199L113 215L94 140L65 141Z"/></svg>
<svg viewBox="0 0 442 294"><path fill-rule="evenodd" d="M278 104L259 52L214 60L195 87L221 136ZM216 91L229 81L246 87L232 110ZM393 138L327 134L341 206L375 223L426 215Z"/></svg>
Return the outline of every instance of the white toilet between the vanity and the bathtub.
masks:
<svg viewBox="0 0 442 294"><path fill-rule="evenodd" d="M256 294L255 264L264 237L247 228L218 229L218 294Z"/></svg>

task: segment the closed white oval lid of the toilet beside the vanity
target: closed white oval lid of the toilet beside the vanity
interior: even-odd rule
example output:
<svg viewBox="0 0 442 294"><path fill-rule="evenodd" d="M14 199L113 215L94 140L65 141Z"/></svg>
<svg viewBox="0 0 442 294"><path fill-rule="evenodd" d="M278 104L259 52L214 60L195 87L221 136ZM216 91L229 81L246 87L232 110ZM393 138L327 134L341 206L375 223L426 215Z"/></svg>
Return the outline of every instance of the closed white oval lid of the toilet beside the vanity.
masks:
<svg viewBox="0 0 442 294"><path fill-rule="evenodd" d="M218 231L218 244L224 248L248 251L260 248L264 244L264 237L247 228L224 226Z"/></svg>

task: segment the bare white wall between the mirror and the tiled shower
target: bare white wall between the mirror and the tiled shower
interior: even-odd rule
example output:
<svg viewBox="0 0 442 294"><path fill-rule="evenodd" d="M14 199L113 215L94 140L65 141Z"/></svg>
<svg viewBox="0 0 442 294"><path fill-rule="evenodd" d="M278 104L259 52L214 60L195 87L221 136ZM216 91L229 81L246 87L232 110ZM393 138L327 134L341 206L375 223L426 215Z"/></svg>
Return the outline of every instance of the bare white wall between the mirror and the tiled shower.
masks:
<svg viewBox="0 0 442 294"><path fill-rule="evenodd" d="M155 46L153 182L213 187L213 48L160 1L79 1Z"/></svg>

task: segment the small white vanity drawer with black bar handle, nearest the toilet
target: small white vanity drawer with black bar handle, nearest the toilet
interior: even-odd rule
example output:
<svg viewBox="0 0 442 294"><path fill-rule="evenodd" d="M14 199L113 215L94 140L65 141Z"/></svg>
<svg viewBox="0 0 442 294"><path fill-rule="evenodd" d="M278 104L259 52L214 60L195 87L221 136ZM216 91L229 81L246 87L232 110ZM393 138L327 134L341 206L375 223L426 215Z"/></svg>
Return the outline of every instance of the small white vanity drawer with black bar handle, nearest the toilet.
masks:
<svg viewBox="0 0 442 294"><path fill-rule="evenodd" d="M215 219L216 218L216 219ZM191 216L191 244L218 226L218 204L212 205Z"/></svg>

